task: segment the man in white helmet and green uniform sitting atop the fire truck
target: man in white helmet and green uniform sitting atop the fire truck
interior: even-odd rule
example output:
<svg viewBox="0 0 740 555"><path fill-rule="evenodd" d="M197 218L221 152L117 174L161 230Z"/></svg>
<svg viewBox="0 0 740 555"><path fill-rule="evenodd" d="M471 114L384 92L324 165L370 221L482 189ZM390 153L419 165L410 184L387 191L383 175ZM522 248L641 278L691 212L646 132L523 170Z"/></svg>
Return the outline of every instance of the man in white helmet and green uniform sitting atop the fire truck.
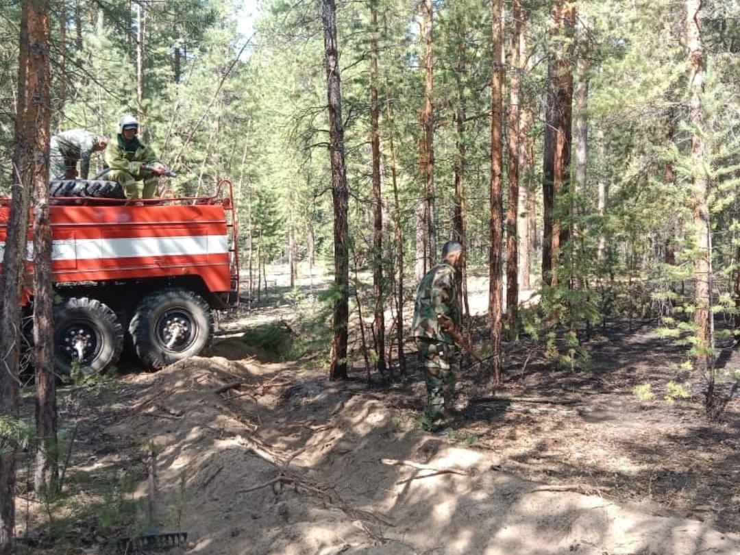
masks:
<svg viewBox="0 0 740 555"><path fill-rule="evenodd" d="M110 167L106 179L118 181L129 201L158 196L159 176L165 171L154 149L138 139L138 121L132 115L118 120L118 135L108 143L103 154ZM138 182L143 181L140 190Z"/></svg>

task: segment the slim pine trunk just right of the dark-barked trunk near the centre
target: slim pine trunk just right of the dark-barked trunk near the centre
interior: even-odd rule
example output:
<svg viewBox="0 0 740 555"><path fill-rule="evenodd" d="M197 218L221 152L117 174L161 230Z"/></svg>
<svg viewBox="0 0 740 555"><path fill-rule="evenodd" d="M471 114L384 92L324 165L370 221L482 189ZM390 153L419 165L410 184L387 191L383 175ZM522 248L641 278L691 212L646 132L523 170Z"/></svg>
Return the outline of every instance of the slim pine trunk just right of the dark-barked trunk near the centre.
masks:
<svg viewBox="0 0 740 555"><path fill-rule="evenodd" d="M386 373L386 316L383 287L383 197L380 188L380 105L377 98L377 0L370 2L370 145L372 152L372 201L373 201L373 272L372 286L375 297L373 331L375 337L375 369Z"/></svg>

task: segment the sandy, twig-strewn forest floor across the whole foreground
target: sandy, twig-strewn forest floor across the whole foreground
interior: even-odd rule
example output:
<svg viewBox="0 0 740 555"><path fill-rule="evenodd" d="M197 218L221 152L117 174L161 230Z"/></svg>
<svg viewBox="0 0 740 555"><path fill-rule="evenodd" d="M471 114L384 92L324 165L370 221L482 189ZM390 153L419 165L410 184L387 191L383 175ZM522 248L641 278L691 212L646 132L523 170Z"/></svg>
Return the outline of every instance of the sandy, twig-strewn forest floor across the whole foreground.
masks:
<svg viewBox="0 0 740 555"><path fill-rule="evenodd" d="M541 346L505 345L495 391L485 365L463 370L443 434L418 423L412 355L390 386L359 366L334 383L240 333L161 371L63 388L67 494L21 491L19 553L121 553L121 537L183 531L170 553L740 554L740 401L710 423L701 384L663 400L688 375L650 323L585 346L584 368L561 369ZM653 400L632 393L645 383Z"/></svg>

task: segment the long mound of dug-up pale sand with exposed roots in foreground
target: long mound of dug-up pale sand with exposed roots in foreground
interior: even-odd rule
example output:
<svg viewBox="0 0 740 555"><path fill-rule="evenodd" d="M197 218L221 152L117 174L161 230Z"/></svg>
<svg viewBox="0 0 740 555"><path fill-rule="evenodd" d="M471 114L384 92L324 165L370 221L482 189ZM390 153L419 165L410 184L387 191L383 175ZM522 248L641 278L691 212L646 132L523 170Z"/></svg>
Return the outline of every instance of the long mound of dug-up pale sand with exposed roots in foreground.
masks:
<svg viewBox="0 0 740 555"><path fill-rule="evenodd" d="M222 353L136 377L110 430L158 445L160 524L188 553L740 552L702 522L499 471L362 384Z"/></svg>

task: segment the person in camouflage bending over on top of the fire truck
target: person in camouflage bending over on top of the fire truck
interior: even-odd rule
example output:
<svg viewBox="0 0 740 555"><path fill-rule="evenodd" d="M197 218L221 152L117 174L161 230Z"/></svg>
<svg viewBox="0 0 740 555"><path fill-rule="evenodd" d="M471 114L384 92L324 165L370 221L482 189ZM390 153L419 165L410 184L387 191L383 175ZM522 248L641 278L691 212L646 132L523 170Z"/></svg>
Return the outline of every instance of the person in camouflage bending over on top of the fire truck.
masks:
<svg viewBox="0 0 740 555"><path fill-rule="evenodd" d="M92 152L103 150L108 144L104 135L95 135L87 129L69 129L50 139L49 167L51 179L87 179L90 174ZM80 172L77 172L80 162Z"/></svg>

